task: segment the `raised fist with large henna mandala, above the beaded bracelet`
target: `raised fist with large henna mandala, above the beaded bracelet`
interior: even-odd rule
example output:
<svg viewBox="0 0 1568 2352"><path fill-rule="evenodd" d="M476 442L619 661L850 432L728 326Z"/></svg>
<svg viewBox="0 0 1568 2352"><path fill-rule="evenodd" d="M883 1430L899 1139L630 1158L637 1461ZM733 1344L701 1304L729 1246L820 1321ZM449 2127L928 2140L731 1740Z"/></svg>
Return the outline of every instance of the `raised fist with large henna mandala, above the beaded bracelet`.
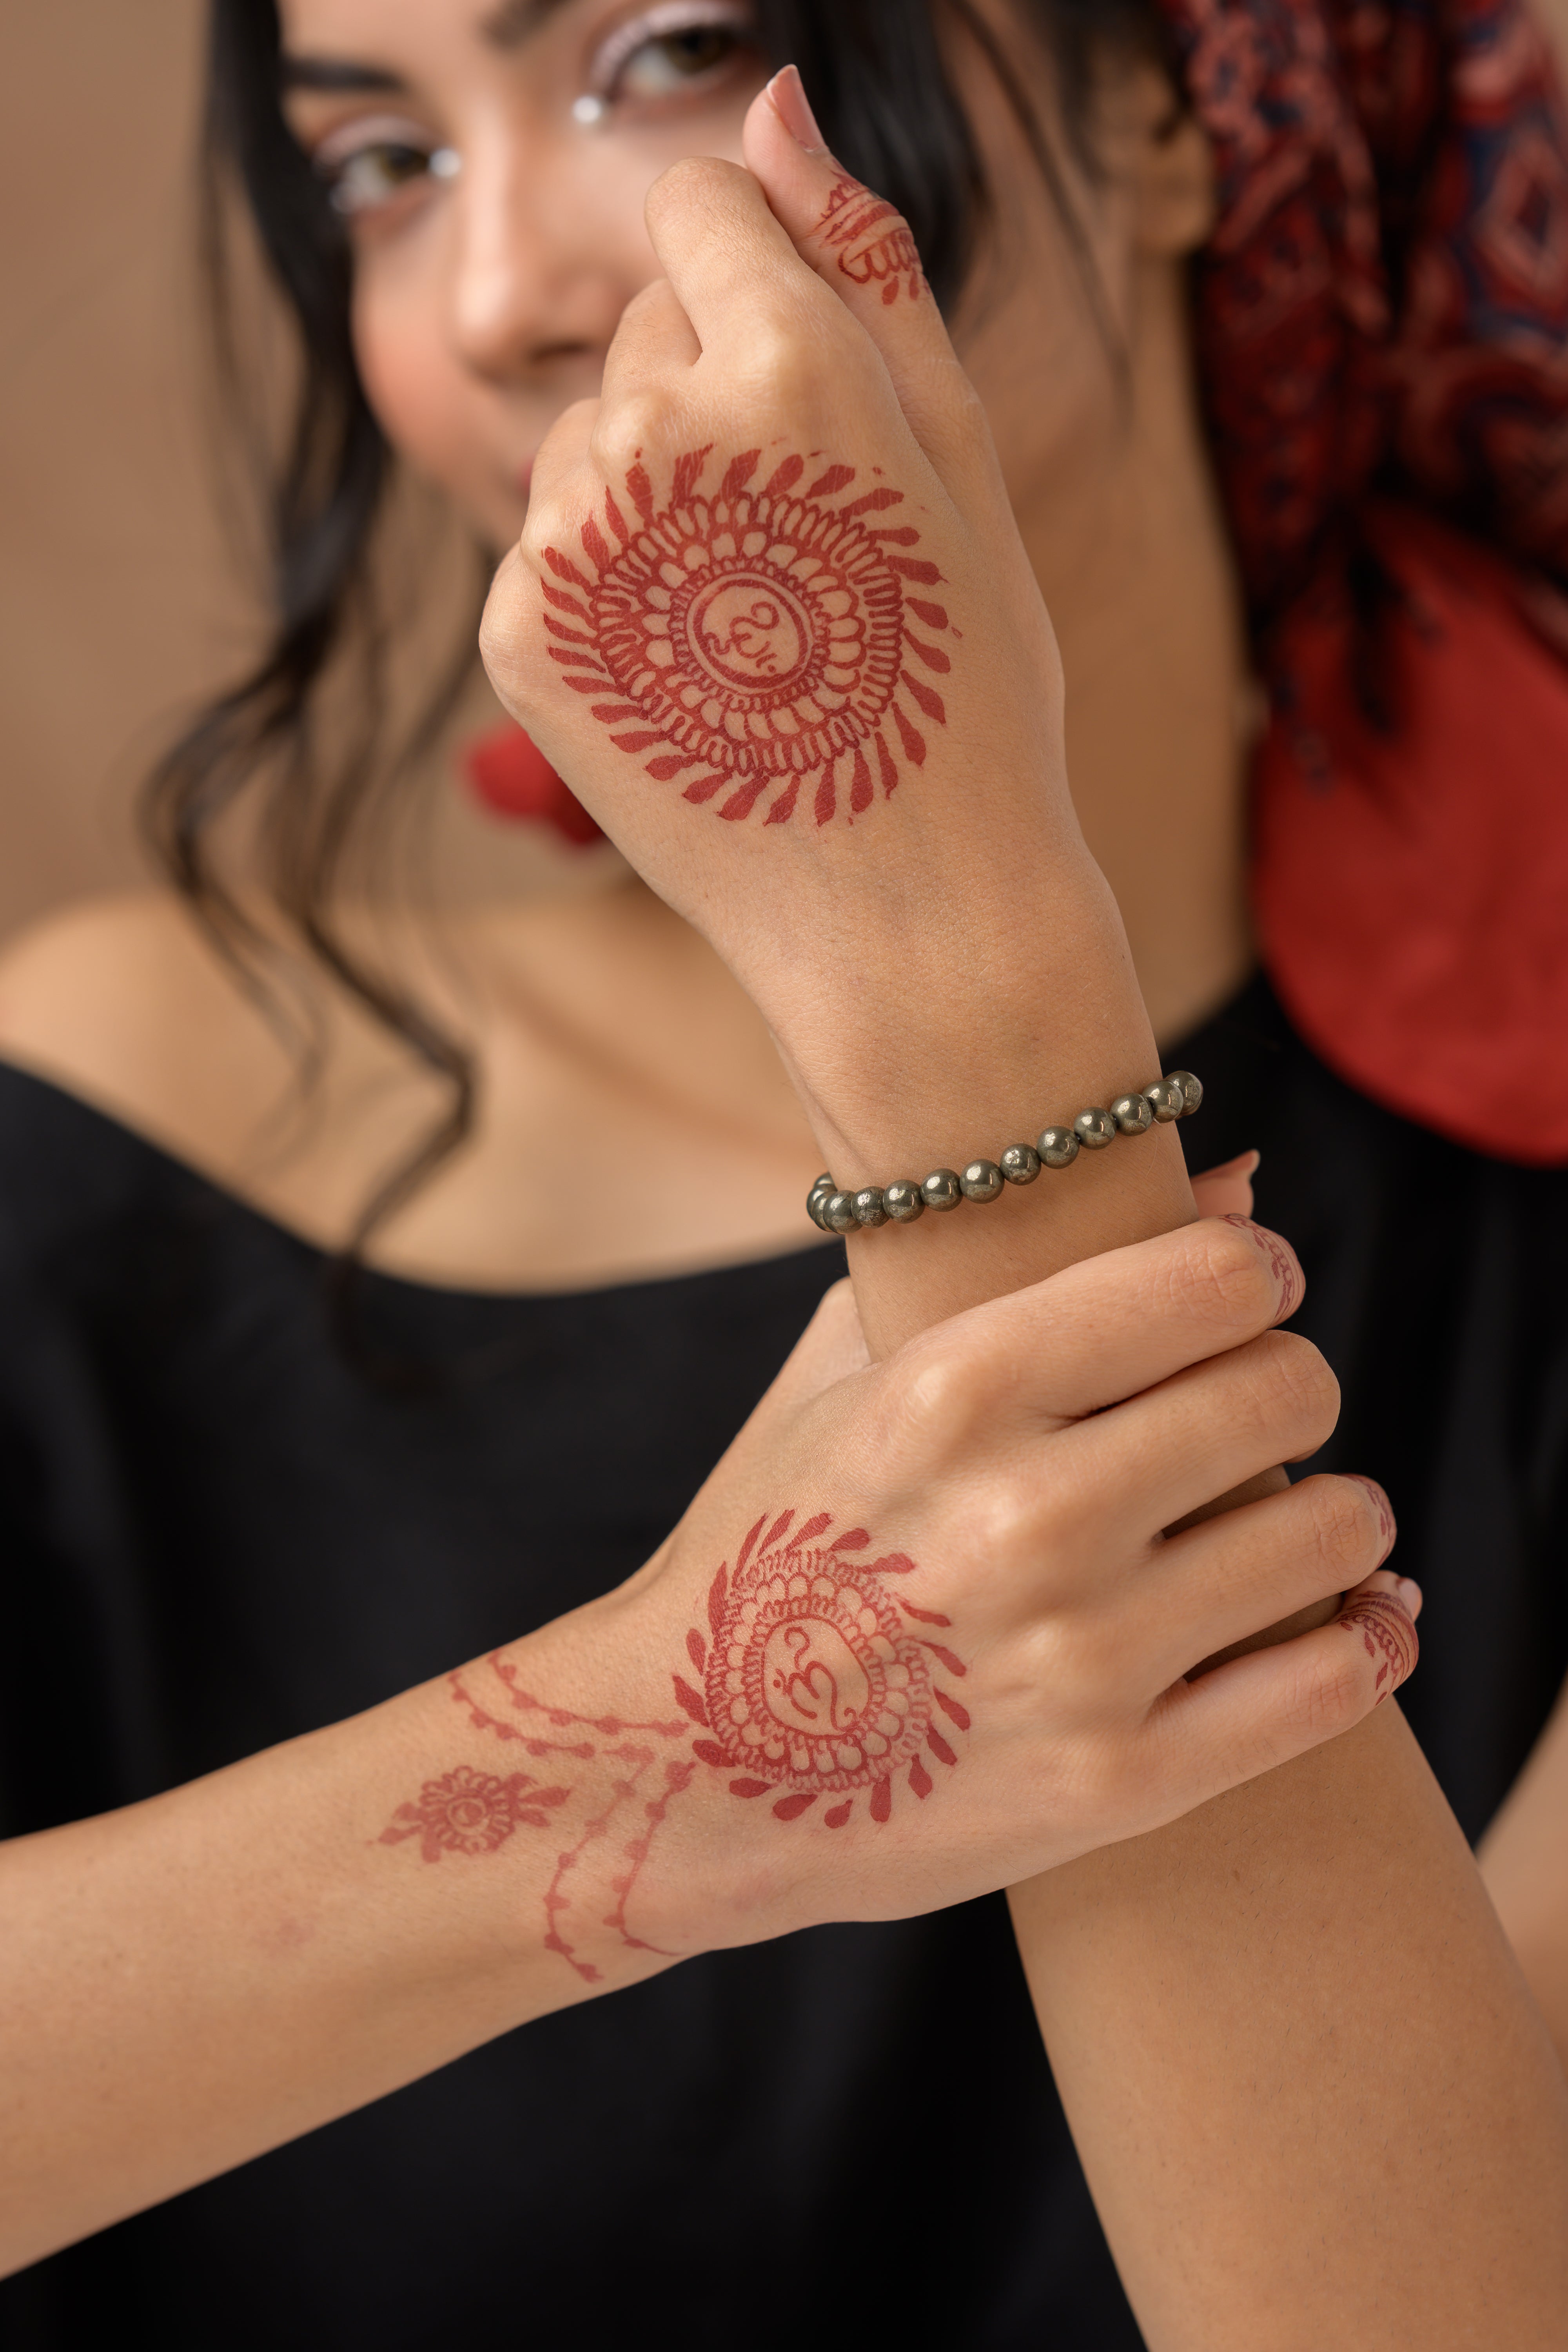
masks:
<svg viewBox="0 0 1568 2352"><path fill-rule="evenodd" d="M769 94L745 141L750 172L651 191L668 278L538 454L484 659L762 1007L849 1181L886 1070L905 1103L954 1040L973 1070L976 1009L999 1120L1157 1063L1067 797L1051 621L907 230ZM964 1108L985 1134L973 1084Z"/></svg>

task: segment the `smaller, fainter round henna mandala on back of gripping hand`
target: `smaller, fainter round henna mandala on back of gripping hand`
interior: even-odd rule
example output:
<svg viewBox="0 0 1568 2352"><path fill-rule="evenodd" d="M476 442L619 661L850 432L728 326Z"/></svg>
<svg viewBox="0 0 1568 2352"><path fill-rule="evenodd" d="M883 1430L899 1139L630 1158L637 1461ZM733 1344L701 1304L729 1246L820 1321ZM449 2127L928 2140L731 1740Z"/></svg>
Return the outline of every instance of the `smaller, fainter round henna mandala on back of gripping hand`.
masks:
<svg viewBox="0 0 1568 2352"><path fill-rule="evenodd" d="M870 1536L856 1526L825 1543L832 1519L820 1512L790 1534L785 1510L764 1536L757 1519L736 1559L719 1566L708 1592L710 1635L686 1637L703 1675L696 1691L682 1675L675 1696L712 1738L693 1740L703 1764L738 1769L736 1797L776 1795L773 1813L797 1820L818 1797L837 1795L823 1820L842 1830L853 1792L870 1790L872 1820L893 1809L893 1776L905 1773L917 1797L931 1795L926 1755L957 1764L947 1733L933 1724L938 1708L969 1731L969 1710L936 1682L964 1675L964 1663L917 1625L950 1621L914 1609L886 1590L907 1576L903 1552L853 1562ZM785 1795L778 1795L785 1790Z"/></svg>

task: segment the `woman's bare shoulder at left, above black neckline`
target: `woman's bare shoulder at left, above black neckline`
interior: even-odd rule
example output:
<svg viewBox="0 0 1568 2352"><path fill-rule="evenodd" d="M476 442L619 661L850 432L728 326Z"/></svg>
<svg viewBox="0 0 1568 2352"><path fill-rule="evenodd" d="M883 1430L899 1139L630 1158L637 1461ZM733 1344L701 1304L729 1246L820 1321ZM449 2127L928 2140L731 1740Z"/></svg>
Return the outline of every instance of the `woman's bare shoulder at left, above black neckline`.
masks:
<svg viewBox="0 0 1568 2352"><path fill-rule="evenodd" d="M287 1051L169 891L87 898L0 950L0 1058L228 1162Z"/></svg>

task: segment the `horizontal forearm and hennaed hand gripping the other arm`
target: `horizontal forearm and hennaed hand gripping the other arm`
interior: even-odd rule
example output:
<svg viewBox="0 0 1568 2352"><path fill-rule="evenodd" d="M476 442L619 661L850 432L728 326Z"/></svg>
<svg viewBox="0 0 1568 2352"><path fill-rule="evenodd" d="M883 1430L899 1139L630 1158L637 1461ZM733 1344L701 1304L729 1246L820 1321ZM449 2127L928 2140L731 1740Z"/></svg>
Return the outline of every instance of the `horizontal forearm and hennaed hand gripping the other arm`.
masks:
<svg viewBox="0 0 1568 2352"><path fill-rule="evenodd" d="M1331 1425L1279 1308L1218 1218L886 1364L839 1284L621 1592L9 1842L0 2265L689 1952L961 1900L1375 1710L1333 1623L1185 1679L1345 1583L1420 1604L1349 1479L1161 1536Z"/></svg>

